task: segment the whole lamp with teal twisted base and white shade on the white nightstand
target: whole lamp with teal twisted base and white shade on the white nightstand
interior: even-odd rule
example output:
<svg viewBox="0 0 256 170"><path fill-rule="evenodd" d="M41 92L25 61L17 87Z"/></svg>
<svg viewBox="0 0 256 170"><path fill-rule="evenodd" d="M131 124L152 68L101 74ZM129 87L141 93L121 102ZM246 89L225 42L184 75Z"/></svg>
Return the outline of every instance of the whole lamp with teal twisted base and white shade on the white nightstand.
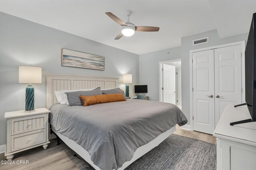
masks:
<svg viewBox="0 0 256 170"><path fill-rule="evenodd" d="M19 83L29 83L26 88L25 112L32 112L34 108L34 87L31 83L42 83L42 68L19 66Z"/></svg>

